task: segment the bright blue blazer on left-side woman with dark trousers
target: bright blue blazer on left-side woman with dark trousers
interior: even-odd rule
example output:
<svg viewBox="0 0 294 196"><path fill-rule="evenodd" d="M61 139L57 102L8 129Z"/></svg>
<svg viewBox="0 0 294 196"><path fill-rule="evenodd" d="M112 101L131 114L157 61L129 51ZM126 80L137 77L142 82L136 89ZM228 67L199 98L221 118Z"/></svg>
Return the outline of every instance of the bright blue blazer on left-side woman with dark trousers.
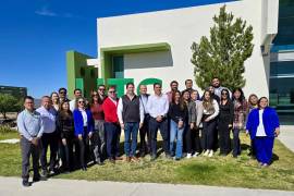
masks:
<svg viewBox="0 0 294 196"><path fill-rule="evenodd" d="M84 132L84 122L83 122L83 115L82 112L78 109L75 109L73 111L74 117L74 135L78 136L78 134L82 134L83 136L86 136L89 132L94 131L94 120L90 110L86 109L87 113L87 130L86 133Z"/></svg>

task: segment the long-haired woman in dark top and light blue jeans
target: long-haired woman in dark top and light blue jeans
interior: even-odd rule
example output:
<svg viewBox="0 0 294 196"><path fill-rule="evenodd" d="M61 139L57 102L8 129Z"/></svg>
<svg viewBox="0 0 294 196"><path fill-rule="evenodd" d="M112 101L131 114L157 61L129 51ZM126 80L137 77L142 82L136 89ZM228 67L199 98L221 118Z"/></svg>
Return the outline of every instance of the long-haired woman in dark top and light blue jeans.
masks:
<svg viewBox="0 0 294 196"><path fill-rule="evenodd" d="M172 93L172 102L168 115L170 118L170 152L173 157L174 140L176 138L175 160L180 160L183 155L183 132L187 123L187 106L179 90Z"/></svg>

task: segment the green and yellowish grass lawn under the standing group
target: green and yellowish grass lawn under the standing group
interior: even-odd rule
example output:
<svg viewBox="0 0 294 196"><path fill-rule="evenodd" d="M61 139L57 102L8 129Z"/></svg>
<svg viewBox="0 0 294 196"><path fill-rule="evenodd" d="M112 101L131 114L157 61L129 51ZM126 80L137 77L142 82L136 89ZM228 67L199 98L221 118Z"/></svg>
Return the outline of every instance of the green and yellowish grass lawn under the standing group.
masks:
<svg viewBox="0 0 294 196"><path fill-rule="evenodd" d="M7 136L0 138L7 138ZM16 135L17 137L17 135ZM15 134L14 134L15 138ZM173 184L201 184L216 186L270 188L294 191L294 154L278 139L274 144L274 161L260 169L256 160L247 154L249 138L241 135L244 150L234 159L231 156L212 158L198 157L181 161L167 160L162 156L154 162L147 156L139 162L93 166L87 172L75 171L54 177L88 181L154 182ZM0 175L21 174L21 152L19 145L0 144Z"/></svg>

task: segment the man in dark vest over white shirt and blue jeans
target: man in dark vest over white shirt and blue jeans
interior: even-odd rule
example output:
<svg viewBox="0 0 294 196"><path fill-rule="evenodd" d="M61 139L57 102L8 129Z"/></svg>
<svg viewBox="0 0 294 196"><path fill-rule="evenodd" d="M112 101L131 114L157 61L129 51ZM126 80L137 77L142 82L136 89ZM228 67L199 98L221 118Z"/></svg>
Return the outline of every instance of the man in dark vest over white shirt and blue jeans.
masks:
<svg viewBox="0 0 294 196"><path fill-rule="evenodd" d="M121 128L124 130L124 152L126 162L138 160L136 158L137 135L144 122L144 108L139 101L139 97L135 95L134 89L134 84L127 83L126 95L120 98L118 106L119 121Z"/></svg>

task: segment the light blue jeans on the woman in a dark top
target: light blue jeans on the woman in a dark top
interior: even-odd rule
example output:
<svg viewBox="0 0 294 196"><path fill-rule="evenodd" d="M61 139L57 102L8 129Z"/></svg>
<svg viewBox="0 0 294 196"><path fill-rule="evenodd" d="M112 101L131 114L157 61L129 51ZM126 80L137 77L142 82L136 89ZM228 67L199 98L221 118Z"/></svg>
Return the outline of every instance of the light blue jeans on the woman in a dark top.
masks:
<svg viewBox="0 0 294 196"><path fill-rule="evenodd" d="M170 152L171 156L174 155L174 140L176 137L176 147L175 147L175 157L182 158L183 155L183 132L184 132L185 125L183 127L179 128L177 123L173 120L170 121L170 128L171 128L171 135L170 135Z"/></svg>

